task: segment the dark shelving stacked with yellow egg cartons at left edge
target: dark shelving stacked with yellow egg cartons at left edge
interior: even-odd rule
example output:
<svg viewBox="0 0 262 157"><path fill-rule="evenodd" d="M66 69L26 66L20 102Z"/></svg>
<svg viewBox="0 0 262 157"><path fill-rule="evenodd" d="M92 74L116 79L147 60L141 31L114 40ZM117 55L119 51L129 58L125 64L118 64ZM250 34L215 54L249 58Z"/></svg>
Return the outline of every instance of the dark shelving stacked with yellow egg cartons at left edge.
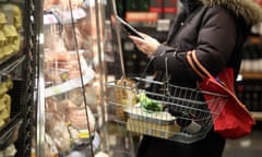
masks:
<svg viewBox="0 0 262 157"><path fill-rule="evenodd" d="M0 1L0 156L31 155L35 87L34 1Z"/></svg>

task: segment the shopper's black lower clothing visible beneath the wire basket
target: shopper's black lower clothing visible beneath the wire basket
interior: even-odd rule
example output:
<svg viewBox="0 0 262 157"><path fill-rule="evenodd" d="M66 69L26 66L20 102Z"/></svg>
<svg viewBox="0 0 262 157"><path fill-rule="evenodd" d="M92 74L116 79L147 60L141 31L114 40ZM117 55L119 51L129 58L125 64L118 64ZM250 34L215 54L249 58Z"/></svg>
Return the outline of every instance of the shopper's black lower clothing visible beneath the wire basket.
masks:
<svg viewBox="0 0 262 157"><path fill-rule="evenodd" d="M145 135L136 157L222 157L225 143L226 140L213 131L205 138L192 144Z"/></svg>

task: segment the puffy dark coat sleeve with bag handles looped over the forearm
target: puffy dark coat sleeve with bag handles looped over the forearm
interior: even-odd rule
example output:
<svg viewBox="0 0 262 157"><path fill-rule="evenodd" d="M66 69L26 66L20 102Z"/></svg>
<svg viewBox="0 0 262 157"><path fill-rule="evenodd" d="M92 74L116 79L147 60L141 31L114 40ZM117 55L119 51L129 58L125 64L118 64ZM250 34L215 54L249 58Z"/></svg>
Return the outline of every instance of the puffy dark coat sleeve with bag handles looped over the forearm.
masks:
<svg viewBox="0 0 262 157"><path fill-rule="evenodd" d="M195 50L200 62L212 73L217 74L226 65L236 45L236 24L234 16L222 7L207 10L202 19ZM153 64L156 71L168 72L175 77L187 80L200 78L186 60L187 50L176 52L175 48L162 45L156 50Z"/></svg>

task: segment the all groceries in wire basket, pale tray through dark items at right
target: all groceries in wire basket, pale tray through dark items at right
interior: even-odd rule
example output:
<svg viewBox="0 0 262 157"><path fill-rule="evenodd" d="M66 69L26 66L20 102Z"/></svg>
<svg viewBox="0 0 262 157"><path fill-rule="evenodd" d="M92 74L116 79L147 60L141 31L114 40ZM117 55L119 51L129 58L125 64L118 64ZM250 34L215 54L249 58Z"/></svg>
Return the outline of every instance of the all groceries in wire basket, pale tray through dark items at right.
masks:
<svg viewBox="0 0 262 157"><path fill-rule="evenodd" d="M189 109L169 111L165 101L152 99L144 92L138 94L139 104L126 111L129 114L128 130L163 138L171 138L179 133L193 134L201 124Z"/></svg>

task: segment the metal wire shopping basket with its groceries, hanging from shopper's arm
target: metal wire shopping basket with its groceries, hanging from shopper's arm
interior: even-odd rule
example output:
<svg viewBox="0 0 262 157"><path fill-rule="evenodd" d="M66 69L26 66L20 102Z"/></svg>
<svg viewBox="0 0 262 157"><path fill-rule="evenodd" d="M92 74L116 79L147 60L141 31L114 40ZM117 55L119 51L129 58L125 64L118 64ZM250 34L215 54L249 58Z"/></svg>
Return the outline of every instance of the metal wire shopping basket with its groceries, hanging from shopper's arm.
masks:
<svg viewBox="0 0 262 157"><path fill-rule="evenodd" d="M163 82L135 77L136 86L121 86L116 82L106 84L111 88L124 88L135 94L136 101L119 101L116 96L108 97L108 107L121 107L127 113L124 122L131 132L162 137L180 143L193 143L205 137L219 116L225 99L224 95L203 92ZM158 92L147 90L146 86L155 85ZM141 94L146 96L142 99ZM213 97L209 106L203 94ZM151 105L148 105L151 104ZM147 106L146 106L147 105ZM157 109L155 107L158 107Z"/></svg>

